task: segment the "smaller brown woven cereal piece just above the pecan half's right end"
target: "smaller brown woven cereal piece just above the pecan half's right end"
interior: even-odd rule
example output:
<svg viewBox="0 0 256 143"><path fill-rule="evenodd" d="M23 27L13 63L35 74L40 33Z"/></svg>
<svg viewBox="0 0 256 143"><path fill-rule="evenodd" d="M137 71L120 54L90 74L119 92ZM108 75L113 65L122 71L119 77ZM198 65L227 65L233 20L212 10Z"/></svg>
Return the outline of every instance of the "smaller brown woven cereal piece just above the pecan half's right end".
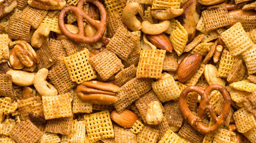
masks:
<svg viewBox="0 0 256 143"><path fill-rule="evenodd" d="M117 75L115 76L115 78L116 78L115 84L118 87L123 86L126 82L128 82L136 77L136 71L137 71L137 68L135 68L134 65L131 65L129 68L126 68L126 69L118 72Z"/></svg>

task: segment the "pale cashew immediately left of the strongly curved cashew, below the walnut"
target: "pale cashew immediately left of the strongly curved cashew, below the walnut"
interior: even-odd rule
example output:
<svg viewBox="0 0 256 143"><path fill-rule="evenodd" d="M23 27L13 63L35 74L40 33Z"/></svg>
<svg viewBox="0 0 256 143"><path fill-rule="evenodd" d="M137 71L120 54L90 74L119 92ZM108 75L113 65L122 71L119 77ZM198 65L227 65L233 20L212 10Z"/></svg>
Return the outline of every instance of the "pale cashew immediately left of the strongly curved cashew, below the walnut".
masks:
<svg viewBox="0 0 256 143"><path fill-rule="evenodd" d="M35 73L10 69L6 73L11 74L11 82L18 86L33 85Z"/></svg>

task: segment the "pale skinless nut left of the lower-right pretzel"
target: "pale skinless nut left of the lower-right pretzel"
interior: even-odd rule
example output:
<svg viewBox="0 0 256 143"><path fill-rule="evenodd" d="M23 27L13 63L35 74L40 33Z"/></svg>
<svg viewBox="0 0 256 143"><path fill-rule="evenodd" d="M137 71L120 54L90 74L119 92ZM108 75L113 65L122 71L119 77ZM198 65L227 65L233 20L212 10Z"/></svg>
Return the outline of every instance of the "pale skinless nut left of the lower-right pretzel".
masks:
<svg viewBox="0 0 256 143"><path fill-rule="evenodd" d="M163 120L162 108L158 101L153 101L148 104L146 121L150 125L157 125Z"/></svg>

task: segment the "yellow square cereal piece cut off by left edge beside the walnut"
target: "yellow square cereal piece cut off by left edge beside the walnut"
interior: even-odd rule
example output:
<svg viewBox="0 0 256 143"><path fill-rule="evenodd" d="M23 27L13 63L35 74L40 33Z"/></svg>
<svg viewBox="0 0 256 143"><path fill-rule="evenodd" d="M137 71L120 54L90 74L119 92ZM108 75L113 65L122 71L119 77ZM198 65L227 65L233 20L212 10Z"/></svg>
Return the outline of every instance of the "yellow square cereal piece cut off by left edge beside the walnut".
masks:
<svg viewBox="0 0 256 143"><path fill-rule="evenodd" d="M0 63L9 59L8 35L0 34Z"/></svg>

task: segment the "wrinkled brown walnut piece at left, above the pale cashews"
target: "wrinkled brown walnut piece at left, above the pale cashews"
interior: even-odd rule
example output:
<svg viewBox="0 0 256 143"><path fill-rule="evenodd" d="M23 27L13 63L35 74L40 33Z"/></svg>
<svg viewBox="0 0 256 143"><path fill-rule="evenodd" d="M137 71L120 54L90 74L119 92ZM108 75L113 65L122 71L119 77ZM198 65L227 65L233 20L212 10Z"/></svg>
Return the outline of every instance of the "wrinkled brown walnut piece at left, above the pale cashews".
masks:
<svg viewBox="0 0 256 143"><path fill-rule="evenodd" d="M27 67L35 66L39 63L39 58L29 43L18 40L14 46L14 52L19 60Z"/></svg>

